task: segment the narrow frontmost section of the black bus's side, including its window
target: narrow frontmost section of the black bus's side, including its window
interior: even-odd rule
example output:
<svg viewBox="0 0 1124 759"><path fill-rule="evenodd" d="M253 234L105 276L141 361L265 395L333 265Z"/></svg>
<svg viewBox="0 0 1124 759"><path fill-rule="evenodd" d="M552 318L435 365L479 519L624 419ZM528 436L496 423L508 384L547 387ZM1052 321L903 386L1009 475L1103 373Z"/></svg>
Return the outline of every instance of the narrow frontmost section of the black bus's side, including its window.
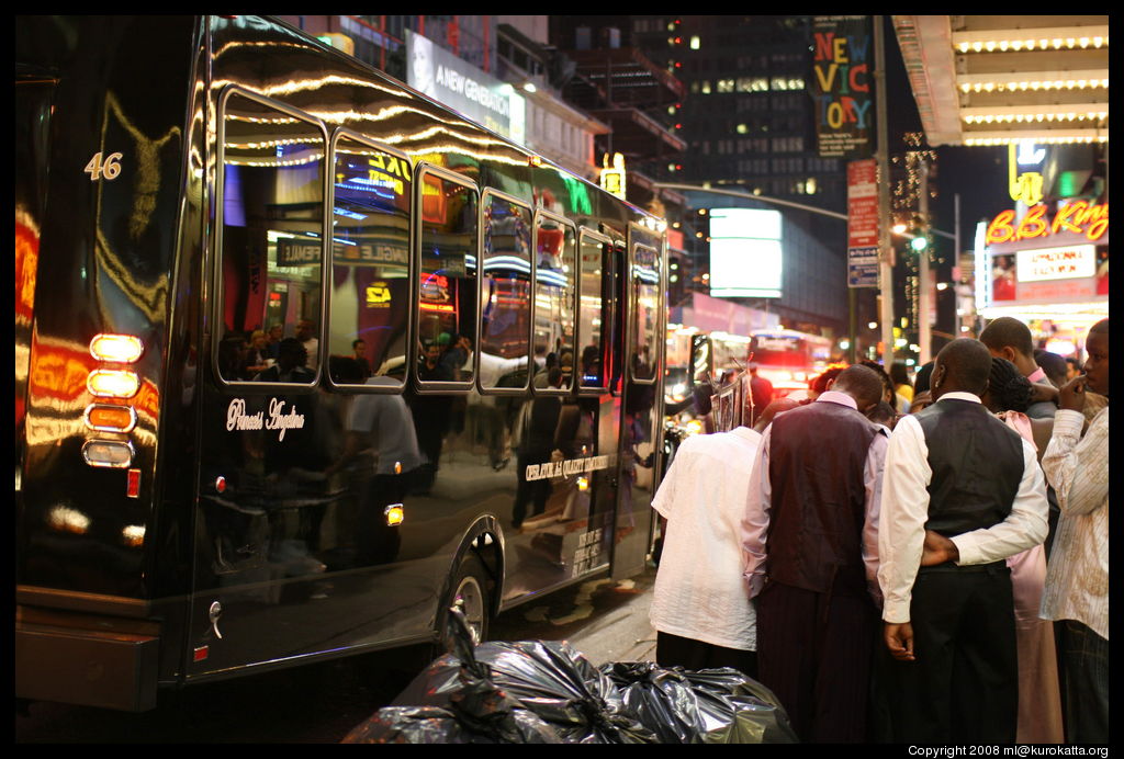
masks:
<svg viewBox="0 0 1124 759"><path fill-rule="evenodd" d="M628 257L619 302L624 304L623 420L620 483L614 578L643 570L652 548L652 497L659 485L660 377L662 375L662 244L651 232L629 230Z"/></svg>

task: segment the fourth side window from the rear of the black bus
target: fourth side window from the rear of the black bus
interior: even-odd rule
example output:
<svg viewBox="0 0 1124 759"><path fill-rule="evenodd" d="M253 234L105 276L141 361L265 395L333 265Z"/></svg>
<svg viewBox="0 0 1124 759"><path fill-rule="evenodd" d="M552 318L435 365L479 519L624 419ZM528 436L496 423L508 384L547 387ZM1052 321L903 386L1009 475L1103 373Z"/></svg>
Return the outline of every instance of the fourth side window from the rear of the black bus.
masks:
<svg viewBox="0 0 1124 759"><path fill-rule="evenodd" d="M527 386L531 353L531 209L484 192L480 386Z"/></svg>

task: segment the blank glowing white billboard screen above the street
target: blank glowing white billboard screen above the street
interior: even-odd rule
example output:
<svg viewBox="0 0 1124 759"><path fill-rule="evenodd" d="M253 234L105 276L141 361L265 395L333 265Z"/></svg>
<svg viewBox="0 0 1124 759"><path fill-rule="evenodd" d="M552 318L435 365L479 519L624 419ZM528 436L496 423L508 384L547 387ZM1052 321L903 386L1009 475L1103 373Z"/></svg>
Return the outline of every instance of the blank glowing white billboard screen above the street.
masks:
<svg viewBox="0 0 1124 759"><path fill-rule="evenodd" d="M710 295L780 298L780 211L710 210Z"/></svg>

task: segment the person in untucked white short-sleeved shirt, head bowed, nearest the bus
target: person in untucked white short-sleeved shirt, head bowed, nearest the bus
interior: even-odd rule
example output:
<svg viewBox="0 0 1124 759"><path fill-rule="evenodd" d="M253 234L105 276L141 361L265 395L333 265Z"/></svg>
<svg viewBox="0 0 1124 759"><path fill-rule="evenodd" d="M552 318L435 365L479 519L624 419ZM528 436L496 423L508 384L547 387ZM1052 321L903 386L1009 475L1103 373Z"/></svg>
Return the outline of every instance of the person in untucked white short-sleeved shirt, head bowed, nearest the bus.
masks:
<svg viewBox="0 0 1124 759"><path fill-rule="evenodd" d="M795 406L770 405L759 427ZM687 438L655 493L652 506L668 520L651 610L661 666L733 667L758 676L738 524L760 440L760 431L746 427Z"/></svg>

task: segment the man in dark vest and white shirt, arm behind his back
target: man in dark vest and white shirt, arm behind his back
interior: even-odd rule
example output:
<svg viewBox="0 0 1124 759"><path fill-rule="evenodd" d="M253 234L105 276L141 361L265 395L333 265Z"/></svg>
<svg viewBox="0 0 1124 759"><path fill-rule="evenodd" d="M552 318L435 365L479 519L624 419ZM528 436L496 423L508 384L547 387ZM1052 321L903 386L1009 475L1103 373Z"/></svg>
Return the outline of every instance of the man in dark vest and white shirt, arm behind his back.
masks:
<svg viewBox="0 0 1124 759"><path fill-rule="evenodd" d="M1045 539L1046 493L1034 447L980 403L990 367L982 342L946 345L933 369L935 402L890 437L878 579L891 660L879 686L889 717L881 737L895 742L1015 741L1004 559Z"/></svg>

